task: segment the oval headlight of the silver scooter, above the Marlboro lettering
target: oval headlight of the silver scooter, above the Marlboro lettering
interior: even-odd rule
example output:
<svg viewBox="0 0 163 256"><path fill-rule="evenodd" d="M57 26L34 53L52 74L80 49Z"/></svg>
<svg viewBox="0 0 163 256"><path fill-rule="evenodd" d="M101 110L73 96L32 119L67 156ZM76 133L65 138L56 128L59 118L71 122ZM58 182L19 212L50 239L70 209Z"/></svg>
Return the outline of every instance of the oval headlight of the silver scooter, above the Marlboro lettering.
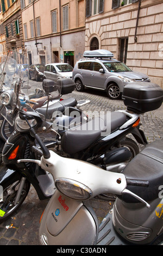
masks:
<svg viewBox="0 0 163 256"><path fill-rule="evenodd" d="M55 186L62 194L75 200L87 200L92 195L90 188L70 179L57 179Z"/></svg>

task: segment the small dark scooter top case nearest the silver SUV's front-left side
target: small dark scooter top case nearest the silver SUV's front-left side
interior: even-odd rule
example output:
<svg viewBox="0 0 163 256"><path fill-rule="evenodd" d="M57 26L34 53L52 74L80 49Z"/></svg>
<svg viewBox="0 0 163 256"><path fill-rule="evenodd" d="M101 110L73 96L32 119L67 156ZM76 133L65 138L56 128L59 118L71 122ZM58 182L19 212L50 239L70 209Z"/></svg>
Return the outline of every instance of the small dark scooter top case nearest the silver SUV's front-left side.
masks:
<svg viewBox="0 0 163 256"><path fill-rule="evenodd" d="M61 78L57 80L57 89L61 95L72 93L76 88L76 83L70 78Z"/></svg>

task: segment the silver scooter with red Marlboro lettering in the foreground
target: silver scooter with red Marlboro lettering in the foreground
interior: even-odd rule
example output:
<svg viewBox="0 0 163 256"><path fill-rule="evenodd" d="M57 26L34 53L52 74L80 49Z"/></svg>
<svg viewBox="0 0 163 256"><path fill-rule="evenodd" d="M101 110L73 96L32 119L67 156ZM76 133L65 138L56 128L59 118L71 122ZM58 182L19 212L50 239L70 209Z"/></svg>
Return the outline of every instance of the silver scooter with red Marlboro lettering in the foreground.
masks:
<svg viewBox="0 0 163 256"><path fill-rule="evenodd" d="M163 140L147 145L123 173L66 159L46 151L31 161L53 175L57 190L43 212L41 245L136 245L163 241ZM98 227L89 199L117 195L113 210Z"/></svg>

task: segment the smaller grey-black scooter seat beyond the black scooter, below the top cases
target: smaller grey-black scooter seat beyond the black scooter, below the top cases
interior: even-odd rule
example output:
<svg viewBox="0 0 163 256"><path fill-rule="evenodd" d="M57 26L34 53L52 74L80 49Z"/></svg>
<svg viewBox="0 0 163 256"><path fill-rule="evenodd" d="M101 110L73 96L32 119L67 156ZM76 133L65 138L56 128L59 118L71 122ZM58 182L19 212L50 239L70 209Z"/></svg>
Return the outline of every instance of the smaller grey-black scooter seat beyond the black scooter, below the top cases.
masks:
<svg viewBox="0 0 163 256"><path fill-rule="evenodd" d="M66 100L55 102L54 104L48 106L47 118L51 119L54 112L58 111L63 113L67 107L75 107L77 105L77 100L70 97ZM47 107L36 108L36 111L40 114L46 115Z"/></svg>

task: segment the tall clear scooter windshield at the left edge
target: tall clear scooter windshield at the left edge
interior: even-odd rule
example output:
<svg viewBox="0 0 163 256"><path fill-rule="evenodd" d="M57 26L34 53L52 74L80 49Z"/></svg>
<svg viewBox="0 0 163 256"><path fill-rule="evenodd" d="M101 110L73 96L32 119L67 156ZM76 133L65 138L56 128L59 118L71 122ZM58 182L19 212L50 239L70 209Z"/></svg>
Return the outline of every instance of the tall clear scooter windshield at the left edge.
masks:
<svg viewBox="0 0 163 256"><path fill-rule="evenodd" d="M26 69L22 64L27 64ZM21 53L10 51L7 59L1 65L0 76L0 105L1 114L14 124L14 110L16 107L22 108L21 97L28 101L28 58ZM22 89L26 88L26 95ZM24 96L27 98L24 99Z"/></svg>

